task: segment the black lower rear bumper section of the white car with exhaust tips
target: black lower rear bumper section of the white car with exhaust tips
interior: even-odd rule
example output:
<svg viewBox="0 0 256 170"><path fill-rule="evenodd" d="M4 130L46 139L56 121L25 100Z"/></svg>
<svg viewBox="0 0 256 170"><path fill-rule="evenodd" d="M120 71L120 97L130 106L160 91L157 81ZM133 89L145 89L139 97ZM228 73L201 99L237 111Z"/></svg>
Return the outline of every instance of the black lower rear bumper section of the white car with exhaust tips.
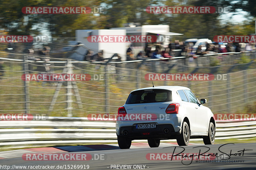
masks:
<svg viewBox="0 0 256 170"><path fill-rule="evenodd" d="M168 132L166 132L168 129ZM164 132L165 130L165 132ZM155 129L136 129L135 126L123 126L119 129L118 137L134 139L174 139L180 131L174 131L172 124L156 124ZM127 133L127 135L125 135ZM149 133L149 134L143 134Z"/></svg>

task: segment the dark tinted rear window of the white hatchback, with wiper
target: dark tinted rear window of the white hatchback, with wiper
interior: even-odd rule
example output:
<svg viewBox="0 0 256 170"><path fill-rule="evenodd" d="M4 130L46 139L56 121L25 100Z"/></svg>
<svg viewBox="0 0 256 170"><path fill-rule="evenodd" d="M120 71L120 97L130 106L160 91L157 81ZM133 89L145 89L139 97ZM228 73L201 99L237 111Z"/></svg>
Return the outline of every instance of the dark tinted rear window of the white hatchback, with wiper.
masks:
<svg viewBox="0 0 256 170"><path fill-rule="evenodd" d="M146 89L132 92L125 104L172 101L172 92L163 89Z"/></svg>

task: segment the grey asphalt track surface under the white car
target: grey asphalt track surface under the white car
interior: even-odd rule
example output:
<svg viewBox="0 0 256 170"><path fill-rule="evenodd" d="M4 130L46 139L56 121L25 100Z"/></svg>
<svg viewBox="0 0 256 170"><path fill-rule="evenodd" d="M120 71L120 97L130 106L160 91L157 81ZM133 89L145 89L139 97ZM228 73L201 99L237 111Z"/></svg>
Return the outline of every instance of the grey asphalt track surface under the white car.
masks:
<svg viewBox="0 0 256 170"><path fill-rule="evenodd" d="M160 145L161 146L161 145ZM89 153L94 158L94 154L104 154L104 160L86 160L86 161L26 161L21 157L2 159L0 165L19 165L19 166L57 166L66 165L66 169L72 169L71 165L89 165L89 169L97 170L108 170L108 169L256 169L256 143L245 143L245 144L218 144L218 145L189 145L184 146L182 153L198 153L201 149L201 153L208 150L206 153L218 153L222 154L219 158L216 158L217 162L196 162L196 160L148 160L146 155L148 153L179 153L183 148L179 148L177 145L172 147L158 147L158 148L138 148L138 149L113 149L113 150L98 150L98 151L81 151L81 152L66 152L66 153ZM162 145L163 146L163 145ZM198 147L202 146L202 147ZM176 147L176 148L175 148ZM175 149L175 151L174 151ZM230 155L231 153L231 155ZM240 153L240 154L239 154ZM242 154L244 153L244 154ZM229 156L228 156L229 155ZM222 158L222 159L220 159ZM238 161L239 162L236 162ZM235 162L234 162L235 161ZM189 165L184 165L189 164ZM67 166L70 166L69 168ZM116 168L114 168L116 165ZM131 165L131 168L121 168L117 165ZM135 165L135 166L134 166ZM141 168L139 166L141 165ZM144 167L144 166L145 167ZM17 168L16 168L17 169ZM54 168L57 169L57 168ZM62 169L62 168L58 168ZM63 167L65 169L65 167ZM75 169L73 167L73 169ZM77 169L77 168L76 168ZM80 169L80 168L79 168ZM81 168L87 169L87 168ZM1 170L5 170L3 167ZM20 170L20 169L17 169ZM33 169L34 170L34 169Z"/></svg>

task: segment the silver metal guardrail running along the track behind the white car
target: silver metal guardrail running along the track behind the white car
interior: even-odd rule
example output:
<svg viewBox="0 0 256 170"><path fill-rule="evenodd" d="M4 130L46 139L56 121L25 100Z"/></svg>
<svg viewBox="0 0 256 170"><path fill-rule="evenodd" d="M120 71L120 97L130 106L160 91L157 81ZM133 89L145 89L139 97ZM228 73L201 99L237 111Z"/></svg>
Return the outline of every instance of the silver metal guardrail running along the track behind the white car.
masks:
<svg viewBox="0 0 256 170"><path fill-rule="evenodd" d="M256 121L217 121L216 139L256 137ZM84 117L48 117L46 120L1 121L1 147L14 145L70 145L116 141L115 122ZM201 140L201 139L191 139Z"/></svg>

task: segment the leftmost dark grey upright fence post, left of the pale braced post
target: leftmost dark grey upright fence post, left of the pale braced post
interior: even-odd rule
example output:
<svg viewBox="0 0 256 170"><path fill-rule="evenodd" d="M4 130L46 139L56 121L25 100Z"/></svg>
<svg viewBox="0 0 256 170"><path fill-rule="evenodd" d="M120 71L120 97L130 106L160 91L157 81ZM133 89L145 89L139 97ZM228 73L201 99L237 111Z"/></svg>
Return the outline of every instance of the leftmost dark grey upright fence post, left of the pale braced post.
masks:
<svg viewBox="0 0 256 170"><path fill-rule="evenodd" d="M24 55L24 74L29 74L28 71L28 56ZM29 81L24 81L24 94L25 94L25 113L30 113L30 103L29 103Z"/></svg>

